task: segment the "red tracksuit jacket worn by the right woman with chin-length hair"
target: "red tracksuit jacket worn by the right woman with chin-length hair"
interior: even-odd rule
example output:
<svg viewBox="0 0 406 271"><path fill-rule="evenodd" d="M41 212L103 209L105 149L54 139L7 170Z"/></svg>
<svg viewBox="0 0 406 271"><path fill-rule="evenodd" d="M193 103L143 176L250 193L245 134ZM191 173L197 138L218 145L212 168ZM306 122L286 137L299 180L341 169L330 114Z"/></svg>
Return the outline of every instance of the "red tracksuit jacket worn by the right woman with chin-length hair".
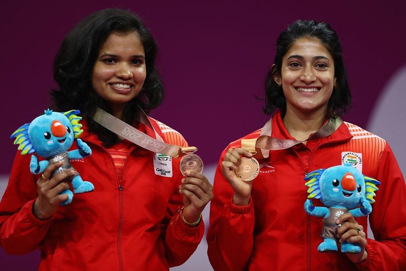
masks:
<svg viewBox="0 0 406 271"><path fill-rule="evenodd" d="M256 138L261 130L244 138ZM272 136L293 139L280 112L273 117ZM229 147L241 147L241 139ZM304 212L307 172L341 165L348 159L362 165L364 175L380 180L369 223L375 239L367 238L368 258L353 264L341 252L320 253L322 218ZM406 270L406 186L385 140L355 125L343 123L326 138L308 140L270 152L259 160L250 204L232 204L233 191L220 171L214 180L209 259L215 270ZM315 205L322 205L313 200ZM367 218L357 218L367 229Z"/></svg>

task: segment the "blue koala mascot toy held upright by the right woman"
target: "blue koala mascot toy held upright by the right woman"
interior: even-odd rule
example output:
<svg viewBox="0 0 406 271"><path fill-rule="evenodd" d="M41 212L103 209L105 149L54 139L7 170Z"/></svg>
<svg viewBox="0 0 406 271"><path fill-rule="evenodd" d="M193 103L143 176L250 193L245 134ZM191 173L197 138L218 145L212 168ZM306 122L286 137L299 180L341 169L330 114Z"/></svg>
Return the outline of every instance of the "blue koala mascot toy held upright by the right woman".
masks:
<svg viewBox="0 0 406 271"><path fill-rule="evenodd" d="M327 169L310 172L304 178L308 189L308 200L304 202L304 210L309 215L323 217L321 237L324 241L318 246L318 251L337 251L337 229L335 223L344 213L350 212L354 217L367 216L372 212L371 203L375 202L375 192L381 183L362 175L358 169L345 163ZM320 199L324 206L314 206L310 199ZM361 246L356 243L343 242L341 251L344 253L359 253Z"/></svg>

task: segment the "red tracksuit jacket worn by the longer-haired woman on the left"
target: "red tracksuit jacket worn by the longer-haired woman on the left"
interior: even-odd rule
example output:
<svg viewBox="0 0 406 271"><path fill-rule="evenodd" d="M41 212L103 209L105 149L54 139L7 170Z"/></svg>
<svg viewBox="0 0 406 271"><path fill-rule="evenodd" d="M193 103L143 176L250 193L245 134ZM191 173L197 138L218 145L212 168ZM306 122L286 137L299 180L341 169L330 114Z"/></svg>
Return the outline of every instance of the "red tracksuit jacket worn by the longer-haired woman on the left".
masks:
<svg viewBox="0 0 406 271"><path fill-rule="evenodd" d="M151 122L166 142L187 145L176 131ZM75 194L72 204L59 206L51 219L40 221L32 215L38 175L29 172L30 155L17 154L0 203L5 251L23 254L40 248L40 270L164 270L186 261L204 225L201 221L198 227L187 227L179 216L179 159L172 159L173 177L158 176L153 153L134 145L119 182L112 157L85 125L84 130L80 138L92 155L72 165L95 189ZM144 130L155 138L150 128Z"/></svg>

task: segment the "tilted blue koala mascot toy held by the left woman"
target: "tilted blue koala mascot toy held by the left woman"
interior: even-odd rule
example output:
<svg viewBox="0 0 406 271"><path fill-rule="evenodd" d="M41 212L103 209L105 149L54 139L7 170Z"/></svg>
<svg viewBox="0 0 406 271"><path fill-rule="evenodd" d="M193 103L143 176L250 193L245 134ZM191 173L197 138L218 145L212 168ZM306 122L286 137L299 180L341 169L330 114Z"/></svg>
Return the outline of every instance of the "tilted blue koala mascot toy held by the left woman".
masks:
<svg viewBox="0 0 406 271"><path fill-rule="evenodd" d="M45 110L45 114L41 115L31 123L24 124L18 128L10 138L15 138L14 144L19 145L18 149L21 154L32 154L46 158L46 160L38 161L35 155L31 156L29 169L32 174L40 174L45 168L58 161L63 161L63 164L54 170L49 178L55 174L62 173L65 170L74 170L70 159L82 159L91 155L90 147L78 137L83 132L82 125L79 121L82 117L79 110L71 110L67 112L52 112ZM75 138L78 149L73 149L67 152L72 146ZM83 181L77 172L71 179L73 191L75 193L85 193L94 190L92 183ZM61 203L67 205L72 202L72 191L65 190L61 194L66 194L68 199Z"/></svg>

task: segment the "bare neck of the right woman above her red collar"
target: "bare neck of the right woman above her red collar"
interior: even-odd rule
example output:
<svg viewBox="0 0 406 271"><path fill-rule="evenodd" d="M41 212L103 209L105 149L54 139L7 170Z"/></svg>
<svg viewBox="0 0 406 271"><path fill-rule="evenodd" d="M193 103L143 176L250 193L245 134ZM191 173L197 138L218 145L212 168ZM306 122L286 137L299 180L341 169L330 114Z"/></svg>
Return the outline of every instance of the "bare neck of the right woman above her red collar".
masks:
<svg viewBox="0 0 406 271"><path fill-rule="evenodd" d="M283 124L289 135L297 140L306 140L323 125L326 110L316 112L302 112L297 109L286 108Z"/></svg>

